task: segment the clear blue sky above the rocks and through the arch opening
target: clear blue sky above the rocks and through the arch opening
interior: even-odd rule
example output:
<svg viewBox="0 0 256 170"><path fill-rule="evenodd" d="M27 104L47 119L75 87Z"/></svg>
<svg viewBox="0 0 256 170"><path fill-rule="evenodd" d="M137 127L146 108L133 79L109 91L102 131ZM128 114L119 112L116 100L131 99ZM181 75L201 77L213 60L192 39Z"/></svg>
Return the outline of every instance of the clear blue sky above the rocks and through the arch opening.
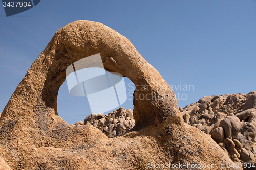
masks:
<svg viewBox="0 0 256 170"><path fill-rule="evenodd" d="M55 32L76 20L101 22L129 39L173 86L179 106L206 95L256 91L255 0L41 0L10 17L0 7L0 113ZM186 85L193 86L185 91ZM91 114L87 98L71 96L66 81L57 103L69 124ZM132 109L132 100L123 107Z"/></svg>

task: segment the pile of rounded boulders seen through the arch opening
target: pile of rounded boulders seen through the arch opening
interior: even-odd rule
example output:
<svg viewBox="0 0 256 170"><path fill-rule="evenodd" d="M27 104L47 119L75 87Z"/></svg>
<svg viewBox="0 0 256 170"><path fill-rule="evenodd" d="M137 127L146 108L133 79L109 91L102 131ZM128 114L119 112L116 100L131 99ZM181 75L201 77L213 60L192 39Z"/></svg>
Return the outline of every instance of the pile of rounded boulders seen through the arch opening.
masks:
<svg viewBox="0 0 256 170"><path fill-rule="evenodd" d="M92 113L84 119L84 123L79 121L76 122L76 124L73 124L73 126L83 124L98 128L108 137L115 137L129 132L134 127L135 120L131 109L126 110L123 109L123 107L120 107L105 116L103 113Z"/></svg>

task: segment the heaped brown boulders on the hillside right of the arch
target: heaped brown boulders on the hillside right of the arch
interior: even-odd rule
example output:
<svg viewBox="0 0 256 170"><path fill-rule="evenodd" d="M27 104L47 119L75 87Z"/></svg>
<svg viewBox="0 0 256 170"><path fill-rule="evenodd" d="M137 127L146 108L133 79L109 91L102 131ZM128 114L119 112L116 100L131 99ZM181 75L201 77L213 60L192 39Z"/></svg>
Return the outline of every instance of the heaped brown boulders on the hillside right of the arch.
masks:
<svg viewBox="0 0 256 170"><path fill-rule="evenodd" d="M209 134L232 161L255 161L256 92L204 96L179 107L184 122Z"/></svg>

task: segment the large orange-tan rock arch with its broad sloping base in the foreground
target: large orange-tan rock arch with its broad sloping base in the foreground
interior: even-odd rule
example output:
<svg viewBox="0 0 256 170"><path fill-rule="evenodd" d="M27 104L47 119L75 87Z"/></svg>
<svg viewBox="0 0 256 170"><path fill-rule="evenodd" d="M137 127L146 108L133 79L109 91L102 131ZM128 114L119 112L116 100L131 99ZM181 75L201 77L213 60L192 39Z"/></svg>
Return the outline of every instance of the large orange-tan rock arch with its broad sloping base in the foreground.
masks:
<svg viewBox="0 0 256 170"><path fill-rule="evenodd" d="M57 113L66 68L98 53L105 70L144 85L136 92L150 99L133 100L136 124L131 132L114 138L93 126L70 126ZM215 102L215 108L221 102ZM205 111L208 104L199 109ZM10 169L148 169L150 163L232 163L208 134L184 124L173 90L132 43L92 21L75 21L59 29L29 68L1 115L0 145L0 164Z"/></svg>

